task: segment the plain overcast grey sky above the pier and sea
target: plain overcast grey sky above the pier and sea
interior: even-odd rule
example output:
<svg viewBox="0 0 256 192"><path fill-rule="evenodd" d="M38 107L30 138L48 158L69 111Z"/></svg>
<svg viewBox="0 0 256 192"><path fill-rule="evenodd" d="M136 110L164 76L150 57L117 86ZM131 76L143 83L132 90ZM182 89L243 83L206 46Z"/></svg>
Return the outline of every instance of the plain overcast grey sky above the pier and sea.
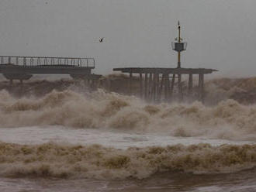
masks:
<svg viewBox="0 0 256 192"><path fill-rule="evenodd" d="M0 55L95 57L97 74L176 67L178 19L182 67L256 76L255 0L1 0Z"/></svg>

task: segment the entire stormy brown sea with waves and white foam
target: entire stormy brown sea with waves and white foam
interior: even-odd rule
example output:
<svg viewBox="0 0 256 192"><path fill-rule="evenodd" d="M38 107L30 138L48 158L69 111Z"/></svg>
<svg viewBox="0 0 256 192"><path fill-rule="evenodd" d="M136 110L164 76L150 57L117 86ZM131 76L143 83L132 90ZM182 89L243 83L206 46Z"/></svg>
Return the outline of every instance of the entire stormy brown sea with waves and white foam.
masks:
<svg viewBox="0 0 256 192"><path fill-rule="evenodd" d="M0 87L1 192L256 190L256 78L208 81L204 104L71 80Z"/></svg>

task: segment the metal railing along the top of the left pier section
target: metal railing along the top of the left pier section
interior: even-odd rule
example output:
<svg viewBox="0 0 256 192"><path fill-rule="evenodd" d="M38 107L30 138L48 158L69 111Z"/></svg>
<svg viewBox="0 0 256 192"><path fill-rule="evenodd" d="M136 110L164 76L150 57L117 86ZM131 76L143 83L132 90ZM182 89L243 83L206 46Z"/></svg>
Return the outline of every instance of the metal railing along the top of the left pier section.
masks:
<svg viewBox="0 0 256 192"><path fill-rule="evenodd" d="M0 64L13 64L19 66L72 66L95 67L94 58L78 57L16 57L0 56Z"/></svg>

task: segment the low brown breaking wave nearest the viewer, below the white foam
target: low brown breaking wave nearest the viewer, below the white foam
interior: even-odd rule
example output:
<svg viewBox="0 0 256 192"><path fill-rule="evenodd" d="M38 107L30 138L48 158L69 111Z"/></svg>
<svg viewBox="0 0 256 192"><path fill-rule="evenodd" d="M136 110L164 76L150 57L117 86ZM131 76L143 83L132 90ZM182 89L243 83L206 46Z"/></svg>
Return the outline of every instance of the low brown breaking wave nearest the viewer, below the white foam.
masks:
<svg viewBox="0 0 256 192"><path fill-rule="evenodd" d="M0 142L3 177L146 178L154 173L232 173L256 166L256 146L167 146L130 148Z"/></svg>

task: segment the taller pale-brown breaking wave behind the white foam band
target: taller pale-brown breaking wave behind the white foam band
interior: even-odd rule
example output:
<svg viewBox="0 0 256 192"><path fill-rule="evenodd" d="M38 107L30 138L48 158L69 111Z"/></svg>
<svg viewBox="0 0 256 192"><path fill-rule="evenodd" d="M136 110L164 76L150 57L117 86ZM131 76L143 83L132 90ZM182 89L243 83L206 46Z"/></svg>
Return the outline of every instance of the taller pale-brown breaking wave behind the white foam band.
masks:
<svg viewBox="0 0 256 192"><path fill-rule="evenodd" d="M135 97L102 90L87 95L52 91L42 98L13 98L0 92L0 127L36 125L254 140L256 106L234 100L215 106L200 102L148 105Z"/></svg>

